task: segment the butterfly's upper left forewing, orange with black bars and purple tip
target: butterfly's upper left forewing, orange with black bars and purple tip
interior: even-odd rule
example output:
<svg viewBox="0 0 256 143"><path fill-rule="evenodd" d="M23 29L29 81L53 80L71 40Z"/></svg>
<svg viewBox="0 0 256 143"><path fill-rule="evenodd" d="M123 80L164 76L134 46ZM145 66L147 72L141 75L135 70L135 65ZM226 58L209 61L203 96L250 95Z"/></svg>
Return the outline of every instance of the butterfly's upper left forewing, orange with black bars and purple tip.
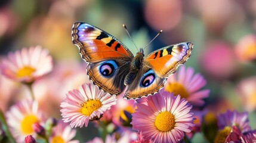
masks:
<svg viewBox="0 0 256 143"><path fill-rule="evenodd" d="M82 58L96 63L115 58L131 59L129 49L118 39L87 23L75 23L72 27L72 40L80 49Z"/></svg>

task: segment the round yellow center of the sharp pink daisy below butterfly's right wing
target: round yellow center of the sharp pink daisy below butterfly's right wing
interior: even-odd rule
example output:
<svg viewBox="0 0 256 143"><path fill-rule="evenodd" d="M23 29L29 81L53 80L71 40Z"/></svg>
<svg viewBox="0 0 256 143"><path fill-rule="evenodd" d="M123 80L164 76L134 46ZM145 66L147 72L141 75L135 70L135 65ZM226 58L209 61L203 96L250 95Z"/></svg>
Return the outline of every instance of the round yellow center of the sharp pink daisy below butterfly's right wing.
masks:
<svg viewBox="0 0 256 143"><path fill-rule="evenodd" d="M159 113L158 116L156 116L155 126L162 132L172 130L175 126L174 115L168 111Z"/></svg>

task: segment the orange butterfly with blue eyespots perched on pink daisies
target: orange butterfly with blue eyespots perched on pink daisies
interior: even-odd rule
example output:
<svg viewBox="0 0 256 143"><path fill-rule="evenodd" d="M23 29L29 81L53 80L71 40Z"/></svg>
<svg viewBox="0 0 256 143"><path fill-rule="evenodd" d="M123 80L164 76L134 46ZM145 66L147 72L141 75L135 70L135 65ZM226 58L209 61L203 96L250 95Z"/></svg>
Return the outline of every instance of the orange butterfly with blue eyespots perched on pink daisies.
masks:
<svg viewBox="0 0 256 143"><path fill-rule="evenodd" d="M104 92L136 99L152 95L164 87L191 55L192 42L165 46L144 57L143 48L134 56L121 41L91 24L76 22L72 41L87 61L87 74Z"/></svg>

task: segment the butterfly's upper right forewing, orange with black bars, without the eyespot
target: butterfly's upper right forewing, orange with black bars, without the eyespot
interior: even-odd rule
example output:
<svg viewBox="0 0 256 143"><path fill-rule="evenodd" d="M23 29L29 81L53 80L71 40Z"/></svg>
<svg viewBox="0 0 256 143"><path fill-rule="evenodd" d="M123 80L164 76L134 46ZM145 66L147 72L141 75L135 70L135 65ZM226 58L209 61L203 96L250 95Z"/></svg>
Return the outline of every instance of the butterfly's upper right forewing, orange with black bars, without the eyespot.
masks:
<svg viewBox="0 0 256 143"><path fill-rule="evenodd" d="M168 77L190 57L193 43L183 42L165 46L144 58L144 63L150 66L158 77Z"/></svg>

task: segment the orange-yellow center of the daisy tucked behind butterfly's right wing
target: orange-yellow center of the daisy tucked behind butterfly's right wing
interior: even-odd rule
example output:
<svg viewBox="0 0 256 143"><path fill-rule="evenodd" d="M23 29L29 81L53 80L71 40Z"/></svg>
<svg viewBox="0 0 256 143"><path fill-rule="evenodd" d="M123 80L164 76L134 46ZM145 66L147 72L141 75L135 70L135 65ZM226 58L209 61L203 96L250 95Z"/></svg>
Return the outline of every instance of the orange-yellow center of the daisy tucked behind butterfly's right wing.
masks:
<svg viewBox="0 0 256 143"><path fill-rule="evenodd" d="M173 92L174 95L180 95L181 98L189 97L189 92L187 92L187 89L184 88L183 85L177 82L166 84L165 91L168 91L170 93Z"/></svg>

